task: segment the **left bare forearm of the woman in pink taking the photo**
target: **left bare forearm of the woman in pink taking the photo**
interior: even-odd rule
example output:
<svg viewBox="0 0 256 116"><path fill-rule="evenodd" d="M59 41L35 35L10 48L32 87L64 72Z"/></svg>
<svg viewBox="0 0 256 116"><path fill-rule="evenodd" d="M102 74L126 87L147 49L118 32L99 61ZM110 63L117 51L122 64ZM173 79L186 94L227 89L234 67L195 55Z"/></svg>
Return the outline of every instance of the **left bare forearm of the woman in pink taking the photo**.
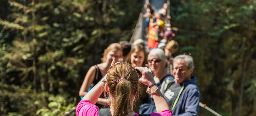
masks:
<svg viewBox="0 0 256 116"><path fill-rule="evenodd" d="M101 93L104 91L104 85L104 82L99 81L89 92L87 92L87 94L83 97L83 100L96 104Z"/></svg>

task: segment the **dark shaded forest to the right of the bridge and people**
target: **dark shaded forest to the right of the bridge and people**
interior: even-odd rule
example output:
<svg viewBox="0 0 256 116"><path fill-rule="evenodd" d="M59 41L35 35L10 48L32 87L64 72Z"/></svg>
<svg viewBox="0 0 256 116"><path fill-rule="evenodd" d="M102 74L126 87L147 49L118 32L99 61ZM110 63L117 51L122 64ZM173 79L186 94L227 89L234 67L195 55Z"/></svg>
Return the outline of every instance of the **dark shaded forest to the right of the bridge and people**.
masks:
<svg viewBox="0 0 256 116"><path fill-rule="evenodd" d="M201 102L222 115L237 115L245 79L242 115L255 114L255 1L174 0L176 54L191 53ZM245 66L246 68L243 68ZM203 115L203 111L200 110Z"/></svg>

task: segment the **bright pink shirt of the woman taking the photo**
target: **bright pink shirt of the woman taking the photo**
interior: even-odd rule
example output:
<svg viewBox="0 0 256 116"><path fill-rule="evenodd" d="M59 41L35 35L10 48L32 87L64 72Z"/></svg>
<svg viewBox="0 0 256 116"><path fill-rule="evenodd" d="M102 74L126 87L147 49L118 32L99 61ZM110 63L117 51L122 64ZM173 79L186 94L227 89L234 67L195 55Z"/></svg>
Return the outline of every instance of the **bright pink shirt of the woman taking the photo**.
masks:
<svg viewBox="0 0 256 116"><path fill-rule="evenodd" d="M98 107L91 104L87 100L81 100L76 109L76 116L99 116L98 114ZM164 110L160 113L152 112L150 113L151 116L172 116L172 112L170 110ZM135 114L134 116L139 116L139 114Z"/></svg>

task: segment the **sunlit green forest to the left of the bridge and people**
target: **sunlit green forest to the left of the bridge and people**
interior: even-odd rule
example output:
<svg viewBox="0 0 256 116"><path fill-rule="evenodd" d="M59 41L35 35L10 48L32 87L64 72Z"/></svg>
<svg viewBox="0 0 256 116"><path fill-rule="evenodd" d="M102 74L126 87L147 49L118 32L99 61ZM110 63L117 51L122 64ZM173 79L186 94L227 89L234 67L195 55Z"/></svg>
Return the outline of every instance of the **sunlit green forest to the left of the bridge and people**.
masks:
<svg viewBox="0 0 256 116"><path fill-rule="evenodd" d="M143 1L0 2L0 81L18 87L0 98L0 114L62 115L104 49L130 39Z"/></svg>

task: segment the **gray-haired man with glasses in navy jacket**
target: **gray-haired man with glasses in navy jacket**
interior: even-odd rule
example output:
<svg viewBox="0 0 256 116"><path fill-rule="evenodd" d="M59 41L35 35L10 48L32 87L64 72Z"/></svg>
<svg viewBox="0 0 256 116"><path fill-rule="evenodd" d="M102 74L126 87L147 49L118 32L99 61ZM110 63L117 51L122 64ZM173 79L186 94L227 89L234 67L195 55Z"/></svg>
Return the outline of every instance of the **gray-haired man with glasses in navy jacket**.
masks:
<svg viewBox="0 0 256 116"><path fill-rule="evenodd" d="M173 60L173 76L164 97L173 115L197 116L199 113L199 89L197 79L192 76L193 58L189 55L178 55Z"/></svg>

